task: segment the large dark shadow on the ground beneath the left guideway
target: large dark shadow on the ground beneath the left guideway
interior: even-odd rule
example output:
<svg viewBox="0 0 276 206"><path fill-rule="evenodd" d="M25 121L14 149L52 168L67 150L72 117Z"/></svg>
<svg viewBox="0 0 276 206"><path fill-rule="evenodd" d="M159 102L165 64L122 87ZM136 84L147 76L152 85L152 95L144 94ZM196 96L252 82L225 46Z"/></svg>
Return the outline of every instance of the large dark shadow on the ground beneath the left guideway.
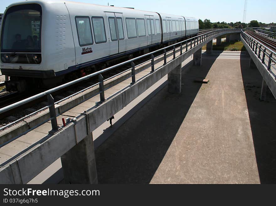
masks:
<svg viewBox="0 0 276 206"><path fill-rule="evenodd" d="M201 87L194 79L206 77L214 61L183 75L181 94L164 87L95 150L99 183L151 181Z"/></svg>

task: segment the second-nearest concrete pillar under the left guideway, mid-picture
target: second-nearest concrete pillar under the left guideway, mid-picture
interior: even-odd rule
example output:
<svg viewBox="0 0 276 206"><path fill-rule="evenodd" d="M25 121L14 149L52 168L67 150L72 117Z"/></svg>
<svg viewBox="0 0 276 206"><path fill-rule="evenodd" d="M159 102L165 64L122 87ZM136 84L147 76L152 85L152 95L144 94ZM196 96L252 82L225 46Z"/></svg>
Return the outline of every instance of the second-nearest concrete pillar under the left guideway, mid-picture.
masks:
<svg viewBox="0 0 276 206"><path fill-rule="evenodd" d="M168 73L168 91L170 93L181 92L181 64Z"/></svg>

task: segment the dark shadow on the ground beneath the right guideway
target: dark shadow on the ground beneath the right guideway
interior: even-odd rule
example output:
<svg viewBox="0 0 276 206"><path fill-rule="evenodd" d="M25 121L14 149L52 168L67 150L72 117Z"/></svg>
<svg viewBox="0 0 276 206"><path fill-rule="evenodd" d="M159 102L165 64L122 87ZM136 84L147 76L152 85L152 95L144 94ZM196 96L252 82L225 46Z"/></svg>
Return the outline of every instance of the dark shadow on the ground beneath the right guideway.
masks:
<svg viewBox="0 0 276 206"><path fill-rule="evenodd" d="M275 184L276 102L259 100L262 75L253 62L249 68L249 61L241 58L240 64L260 182Z"/></svg>

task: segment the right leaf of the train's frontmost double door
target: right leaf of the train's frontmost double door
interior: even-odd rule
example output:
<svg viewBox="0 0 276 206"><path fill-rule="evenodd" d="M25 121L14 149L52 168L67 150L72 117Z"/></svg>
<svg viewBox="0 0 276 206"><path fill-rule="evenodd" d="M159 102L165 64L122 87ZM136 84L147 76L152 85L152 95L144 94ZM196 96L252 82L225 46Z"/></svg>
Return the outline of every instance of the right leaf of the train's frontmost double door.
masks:
<svg viewBox="0 0 276 206"><path fill-rule="evenodd" d="M115 13L116 17L116 27L117 34L119 39L119 53L126 51L126 37L125 37L125 26L124 26L124 18L122 13Z"/></svg>

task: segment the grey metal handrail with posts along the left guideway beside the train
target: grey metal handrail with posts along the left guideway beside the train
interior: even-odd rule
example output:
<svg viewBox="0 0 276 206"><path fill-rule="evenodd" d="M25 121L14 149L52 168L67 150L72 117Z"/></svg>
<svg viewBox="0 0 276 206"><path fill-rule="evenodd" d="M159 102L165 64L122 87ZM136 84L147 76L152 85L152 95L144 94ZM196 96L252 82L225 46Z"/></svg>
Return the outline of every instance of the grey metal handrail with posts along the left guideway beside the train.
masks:
<svg viewBox="0 0 276 206"><path fill-rule="evenodd" d="M19 122L19 121L21 121L21 120L27 118L27 117L29 117L29 116L31 116L31 115L34 115L35 113L38 113L39 111L42 111L43 109L46 109L46 108L49 108L49 110L50 110L50 117L51 117L52 129L53 129L53 130L57 130L57 129L58 129L58 126L57 126L57 121L56 121L56 111L55 111L55 106L54 106L54 105L57 104L57 103L59 103L59 102L61 102L61 100L55 103L55 102L54 102L54 99L53 99L53 97L52 97L52 95L51 95L52 92L56 92L56 91L58 91L58 90L60 90L60 89L63 89L63 88L65 88L65 87L71 86L71 85L73 85L73 84L76 84L76 83L78 83L78 82L81 82L81 81L83 81L83 80L87 80L87 79L89 79L89 78L91 78L91 77L94 77L94 76L97 76L97 75L98 75L98 76L99 76L99 82L98 82L97 84L95 84L95 85L99 85L99 87L100 87L100 102L104 102L104 100L105 100L105 99L104 99L104 80L103 80L102 73L104 73L104 72L106 72L106 71L109 71L109 70L111 70L111 69L114 69L114 68L116 68L116 67L119 67L119 66L122 66L122 65L125 65L125 64L128 64L128 63L131 63L131 77L132 77L132 84L134 84L134 83L135 83L135 65L134 65L133 62L134 62L135 60L139 60L139 59L144 58L144 57L149 56L149 55L151 55L151 59L154 59L154 54L155 54L155 53L160 52L160 51L163 51L163 52L164 52L164 64L166 64L166 63L167 63L167 62L166 62L166 61L167 61L167 58L166 58L167 51L166 51L166 49L173 48L173 56L175 57L175 46L176 46L176 45L179 45L179 46L180 46L180 54L182 54L182 45L184 45L183 43L186 44L186 51L187 51L187 50L188 50L188 43L190 43L190 49L191 49L191 48L193 47L193 44L192 44L193 41L194 41L194 46L195 46L196 40L199 41L199 42L197 42L197 44L198 44L198 43L201 43L201 42L207 40L208 38L212 37L213 35L220 34L220 33L224 33L224 32L227 32L227 31L236 31L236 32L240 32L241 29L216 29L216 30L212 30L212 31L210 31L210 32L207 32L207 33L204 33L204 34L197 35L197 36L195 36L195 37L192 37L192 38L187 39L187 40L183 40L183 41L178 42L178 43L175 43L175 44L173 44L173 45L169 45L169 46L164 47L164 48L162 48L162 49L158 49L158 50L152 51L152 52L150 52L150 53L141 55L141 56L139 56L139 57L135 57L135 58L130 59L130 60L128 60L128 61L124 61L124 62L119 63L119 64L116 64L116 65L114 65L114 66L110 66L110 67L108 67L108 68L106 68L106 69L103 69L103 70L101 70L101 71L94 72L94 73L89 74L89 75L87 75L87 76L85 76L85 77L81 77L81 78L78 78L78 79L73 80L73 81L71 81L71 82L67 82L67 83L65 83L65 84L63 84L63 85L54 87L54 88L52 88L52 89L49 89L49 90L46 90L46 91L41 92L41 93L39 93L39 94L36 94L36 95L34 95L34 96L32 96L32 97L26 98L26 99L21 100L21 101L19 101L19 102L13 103L13 104L8 105L8 106L3 107L3 108L0 108L0 114L2 114L2 113L4 113L4 112L7 112L7 111L13 109L13 108L20 107L21 105L23 105L23 104L25 104L25 103L29 103L29 102L31 102L31 101L33 101L33 100L35 100L35 99L42 98L42 97L44 97L44 96L47 96L48 104L49 104L48 106L46 106L46 107L44 107L44 108L42 108L42 109L40 109L40 110L38 110L38 111L35 111L35 112L33 112L32 114L26 115L26 116L20 118L19 120L16 120L16 121L14 121L14 122L12 122L12 123L9 123L9 124L7 124L7 125L1 127L0 130L6 129L6 128L8 128L9 126L11 126L11 125L13 125L13 124L15 124L15 123L17 123L17 122ZM152 61L151 61L151 63L152 63ZM153 61L152 64L154 65L154 61ZM154 71L154 67L152 67L152 68L153 68L152 71ZM117 74L114 75L114 76L117 76ZM113 76L113 77L114 77L114 76ZM111 77L110 77L110 78L111 78ZM95 85L93 85L93 86L95 86ZM92 86L90 86L90 87L92 87ZM90 87L89 87L89 88L90 88ZM88 88L86 88L86 89L88 89ZM86 89L84 89L84 90L86 90ZM81 90L81 91L83 91L83 90ZM76 95L76 94L78 94L78 93L80 93L81 91L76 92L75 94L73 94L73 96ZM72 95L70 95L69 97L63 98L62 101L66 100L66 99L68 99L68 98L70 98L70 97L72 97Z"/></svg>

